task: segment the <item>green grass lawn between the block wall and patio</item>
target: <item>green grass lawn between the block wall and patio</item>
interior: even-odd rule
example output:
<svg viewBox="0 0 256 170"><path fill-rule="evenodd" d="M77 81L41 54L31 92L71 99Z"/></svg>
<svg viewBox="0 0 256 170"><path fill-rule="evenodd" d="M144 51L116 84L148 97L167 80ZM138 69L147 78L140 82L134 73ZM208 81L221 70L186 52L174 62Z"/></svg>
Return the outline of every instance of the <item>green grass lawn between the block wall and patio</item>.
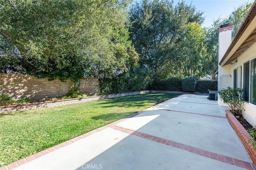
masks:
<svg viewBox="0 0 256 170"><path fill-rule="evenodd" d="M0 167L175 96L147 93L0 114Z"/></svg>

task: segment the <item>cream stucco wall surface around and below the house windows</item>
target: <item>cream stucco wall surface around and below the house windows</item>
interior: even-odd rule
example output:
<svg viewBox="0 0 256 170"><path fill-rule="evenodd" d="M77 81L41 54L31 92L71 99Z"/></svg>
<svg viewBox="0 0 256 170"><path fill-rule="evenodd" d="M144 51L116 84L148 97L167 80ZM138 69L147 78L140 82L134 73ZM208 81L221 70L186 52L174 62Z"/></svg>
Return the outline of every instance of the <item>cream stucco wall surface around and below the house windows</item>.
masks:
<svg viewBox="0 0 256 170"><path fill-rule="evenodd" d="M234 82L234 69L238 68L239 66L242 66L242 88L244 86L243 80L244 80L244 63L255 59L256 58L256 43L252 45L249 49L247 49L240 57L238 57L237 63L234 64L228 64L231 69L230 69L230 74L232 75L232 80L231 80L231 86L233 87L233 82ZM244 109L245 111L243 112L244 118L251 124L251 125L256 125L256 105L244 102Z"/></svg>

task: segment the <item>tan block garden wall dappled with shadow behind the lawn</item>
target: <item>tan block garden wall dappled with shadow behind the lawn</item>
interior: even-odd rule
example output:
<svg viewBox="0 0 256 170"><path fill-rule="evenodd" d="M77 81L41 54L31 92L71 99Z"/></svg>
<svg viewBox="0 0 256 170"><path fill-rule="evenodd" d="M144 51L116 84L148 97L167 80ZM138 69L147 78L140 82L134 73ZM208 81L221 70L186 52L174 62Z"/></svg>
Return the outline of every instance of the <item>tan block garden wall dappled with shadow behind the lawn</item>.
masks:
<svg viewBox="0 0 256 170"><path fill-rule="evenodd" d="M48 81L47 78L36 78L25 74L0 74L0 94L10 94L15 100L20 98L41 100L64 95L67 94L72 85L70 79L61 82L59 79ZM98 79L81 79L80 93L93 95L99 92Z"/></svg>

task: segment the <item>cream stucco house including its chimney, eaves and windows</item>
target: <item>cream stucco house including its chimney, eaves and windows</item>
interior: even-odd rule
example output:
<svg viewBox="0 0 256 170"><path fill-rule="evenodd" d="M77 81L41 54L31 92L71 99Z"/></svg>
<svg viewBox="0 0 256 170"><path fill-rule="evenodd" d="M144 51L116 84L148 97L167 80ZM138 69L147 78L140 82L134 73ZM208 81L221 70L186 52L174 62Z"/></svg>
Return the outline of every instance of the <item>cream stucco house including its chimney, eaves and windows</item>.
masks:
<svg viewBox="0 0 256 170"><path fill-rule="evenodd" d="M246 92L244 92L248 97L248 102L244 103L245 111L243 111L242 115L251 125L255 126L256 62L254 61L253 64L251 61L256 59L256 0L231 43L230 27L232 26L224 24L219 29L218 88L221 89L228 86L243 88L244 91L249 93L246 95ZM229 44L228 47L227 43ZM245 64L247 65L246 78L244 76ZM234 70L236 70L236 75ZM251 94L253 95L250 98ZM218 104L224 106L220 98L218 98Z"/></svg>

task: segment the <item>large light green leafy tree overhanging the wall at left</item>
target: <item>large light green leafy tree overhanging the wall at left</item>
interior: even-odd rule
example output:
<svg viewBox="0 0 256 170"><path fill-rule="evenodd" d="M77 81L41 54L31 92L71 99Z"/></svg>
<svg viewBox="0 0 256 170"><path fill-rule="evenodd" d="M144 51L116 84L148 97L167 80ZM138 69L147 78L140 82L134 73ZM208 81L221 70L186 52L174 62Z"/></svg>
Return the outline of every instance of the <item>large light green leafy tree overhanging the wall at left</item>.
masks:
<svg viewBox="0 0 256 170"><path fill-rule="evenodd" d="M112 76L136 63L126 0L0 0L0 34L28 74Z"/></svg>

